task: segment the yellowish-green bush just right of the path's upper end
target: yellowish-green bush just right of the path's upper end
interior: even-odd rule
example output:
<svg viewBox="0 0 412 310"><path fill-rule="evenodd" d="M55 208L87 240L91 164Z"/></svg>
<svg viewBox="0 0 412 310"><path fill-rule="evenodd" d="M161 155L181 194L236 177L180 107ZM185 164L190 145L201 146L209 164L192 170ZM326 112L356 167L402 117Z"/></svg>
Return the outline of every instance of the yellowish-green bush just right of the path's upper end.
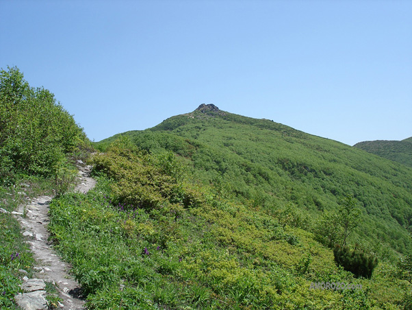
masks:
<svg viewBox="0 0 412 310"><path fill-rule="evenodd" d="M95 171L116 180L112 184L114 202L124 206L151 209L165 202L196 206L202 200L194 187L182 182L183 168L171 153L144 154L127 139L119 139L90 163Z"/></svg>

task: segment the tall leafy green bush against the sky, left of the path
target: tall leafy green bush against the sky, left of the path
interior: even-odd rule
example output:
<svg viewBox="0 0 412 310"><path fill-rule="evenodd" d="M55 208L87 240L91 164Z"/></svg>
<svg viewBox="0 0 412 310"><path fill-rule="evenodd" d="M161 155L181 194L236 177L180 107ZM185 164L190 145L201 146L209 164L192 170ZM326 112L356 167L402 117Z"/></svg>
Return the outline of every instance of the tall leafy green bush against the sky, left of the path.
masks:
<svg viewBox="0 0 412 310"><path fill-rule="evenodd" d="M0 181L18 173L47 176L88 139L45 88L33 88L16 67L0 71Z"/></svg>

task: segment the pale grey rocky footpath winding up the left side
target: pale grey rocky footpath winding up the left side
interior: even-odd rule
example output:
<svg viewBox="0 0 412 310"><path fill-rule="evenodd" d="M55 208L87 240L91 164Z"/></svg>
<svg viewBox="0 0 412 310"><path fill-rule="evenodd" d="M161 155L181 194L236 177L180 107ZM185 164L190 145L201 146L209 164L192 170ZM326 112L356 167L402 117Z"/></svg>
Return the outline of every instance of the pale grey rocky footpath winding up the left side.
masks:
<svg viewBox="0 0 412 310"><path fill-rule="evenodd" d="M76 191L87 193L96 184L95 180L90 178L90 166L85 166L79 160L79 179L80 184ZM21 223L24 230L23 235L28 238L31 251L36 259L36 278L23 278L23 289L25 293L15 296L18 305L24 310L47 309L45 299L46 291L45 282L55 284L59 291L62 302L60 309L80 310L84 309L83 300L79 296L79 284L68 274L70 265L62 261L49 243L49 203L52 197L40 196L31 201L28 206L21 206L15 216ZM25 215L24 215L25 214Z"/></svg>

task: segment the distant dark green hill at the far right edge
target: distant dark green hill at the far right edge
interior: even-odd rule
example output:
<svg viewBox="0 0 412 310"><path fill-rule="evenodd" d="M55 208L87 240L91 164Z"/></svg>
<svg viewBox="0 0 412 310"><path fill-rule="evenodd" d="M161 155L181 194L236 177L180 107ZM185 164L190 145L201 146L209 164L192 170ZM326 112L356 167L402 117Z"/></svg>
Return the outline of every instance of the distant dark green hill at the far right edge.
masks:
<svg viewBox="0 0 412 310"><path fill-rule="evenodd" d="M412 137L402 141L363 141L354 147L412 167Z"/></svg>

